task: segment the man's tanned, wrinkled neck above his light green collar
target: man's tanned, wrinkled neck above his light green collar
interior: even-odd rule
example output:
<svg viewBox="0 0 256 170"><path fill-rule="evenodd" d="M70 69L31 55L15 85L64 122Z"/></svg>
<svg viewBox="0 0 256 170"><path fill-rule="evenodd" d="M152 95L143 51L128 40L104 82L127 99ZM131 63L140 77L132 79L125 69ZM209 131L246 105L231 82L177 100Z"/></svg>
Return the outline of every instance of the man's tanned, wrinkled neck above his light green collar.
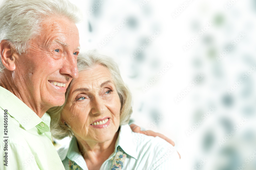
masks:
<svg viewBox="0 0 256 170"><path fill-rule="evenodd" d="M12 92L41 118L49 108L42 109L42 106L36 104L26 86L22 84L20 81L14 82L12 75L8 72L0 73L0 86Z"/></svg>

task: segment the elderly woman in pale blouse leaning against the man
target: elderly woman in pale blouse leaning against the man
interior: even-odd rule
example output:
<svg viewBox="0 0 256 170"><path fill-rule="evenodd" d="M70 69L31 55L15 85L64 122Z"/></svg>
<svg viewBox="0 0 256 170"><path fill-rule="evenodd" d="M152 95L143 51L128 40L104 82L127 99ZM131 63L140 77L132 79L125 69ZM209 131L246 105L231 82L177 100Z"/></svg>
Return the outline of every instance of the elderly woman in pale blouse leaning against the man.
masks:
<svg viewBox="0 0 256 170"><path fill-rule="evenodd" d="M179 169L174 147L159 137L132 132L131 94L113 59L90 51L77 59L63 106L48 111L52 135L72 136L58 153L66 169Z"/></svg>

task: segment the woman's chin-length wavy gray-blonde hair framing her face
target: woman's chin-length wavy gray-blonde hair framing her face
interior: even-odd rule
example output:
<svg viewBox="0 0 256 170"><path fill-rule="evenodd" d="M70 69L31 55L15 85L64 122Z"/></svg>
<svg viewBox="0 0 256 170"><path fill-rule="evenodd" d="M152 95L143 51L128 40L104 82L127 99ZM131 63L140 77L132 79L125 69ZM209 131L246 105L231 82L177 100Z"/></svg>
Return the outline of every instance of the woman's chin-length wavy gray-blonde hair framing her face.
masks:
<svg viewBox="0 0 256 170"><path fill-rule="evenodd" d="M132 96L130 90L127 88L120 75L118 65L112 58L102 55L96 50L91 50L85 54L80 53L77 57L77 67L79 72L88 70L98 64L108 68L110 71L121 102L120 125L128 124L132 114ZM61 121L61 112L67 103L72 82L73 80L70 82L65 93L65 103L62 106L52 107L47 111L47 113L51 116L51 133L56 139L63 139L67 136L73 136L71 128L67 124L63 124ZM74 117L71 116L69 121L72 121L73 118Z"/></svg>

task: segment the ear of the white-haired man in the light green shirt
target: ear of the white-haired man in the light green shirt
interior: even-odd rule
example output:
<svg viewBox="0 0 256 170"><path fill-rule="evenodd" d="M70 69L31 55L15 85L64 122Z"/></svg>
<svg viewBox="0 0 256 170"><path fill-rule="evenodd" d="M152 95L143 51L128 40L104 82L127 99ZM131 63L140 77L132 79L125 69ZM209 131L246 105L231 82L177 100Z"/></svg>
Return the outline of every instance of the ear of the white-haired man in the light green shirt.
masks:
<svg viewBox="0 0 256 170"><path fill-rule="evenodd" d="M10 71L15 70L16 64L15 61L17 59L17 53L10 46L10 43L6 40L2 40L0 42L0 52L1 52L1 61L5 68Z"/></svg>

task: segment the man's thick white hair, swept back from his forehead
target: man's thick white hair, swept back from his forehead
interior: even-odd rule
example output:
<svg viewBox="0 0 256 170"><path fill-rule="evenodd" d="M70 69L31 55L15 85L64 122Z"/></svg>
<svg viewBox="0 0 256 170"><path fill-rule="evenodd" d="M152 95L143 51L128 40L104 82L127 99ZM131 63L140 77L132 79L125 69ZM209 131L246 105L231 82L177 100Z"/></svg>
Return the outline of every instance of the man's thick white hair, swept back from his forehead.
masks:
<svg viewBox="0 0 256 170"><path fill-rule="evenodd" d="M59 16L78 23L82 13L68 0L5 0L0 6L0 42L7 40L18 54L29 49L30 40L40 35L40 23ZM4 65L0 60L0 73Z"/></svg>

